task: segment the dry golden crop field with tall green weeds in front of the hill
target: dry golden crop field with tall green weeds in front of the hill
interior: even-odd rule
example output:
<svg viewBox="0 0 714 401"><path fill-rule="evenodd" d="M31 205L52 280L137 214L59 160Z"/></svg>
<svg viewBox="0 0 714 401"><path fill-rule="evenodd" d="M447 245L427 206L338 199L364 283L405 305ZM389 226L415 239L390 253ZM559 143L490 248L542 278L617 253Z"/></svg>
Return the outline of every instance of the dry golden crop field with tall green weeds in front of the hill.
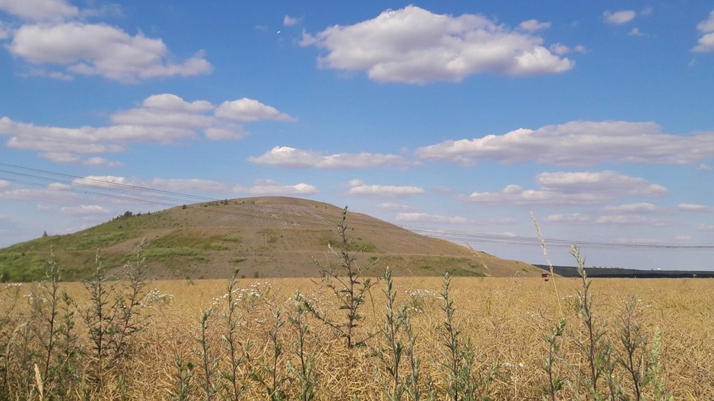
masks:
<svg viewBox="0 0 714 401"><path fill-rule="evenodd" d="M126 347L116 354L96 352L97 310L81 283L59 284L71 302L67 310L56 303L54 337L51 283L6 285L0 399L714 400L711 280L591 280L588 320L579 278L451 278L448 307L441 278L395 277L392 314L385 280L365 293L352 334L366 340L352 348L338 335L346 310L320 280L238 279L233 308L230 283L144 283L137 330L122 332ZM131 306L129 290L120 311ZM296 290L332 325L296 303ZM119 292L102 298L105 315ZM68 318L74 323L61 323ZM553 335L560 318L565 327ZM122 330L112 330L106 350L121 342ZM588 395L590 362L598 377Z"/></svg>

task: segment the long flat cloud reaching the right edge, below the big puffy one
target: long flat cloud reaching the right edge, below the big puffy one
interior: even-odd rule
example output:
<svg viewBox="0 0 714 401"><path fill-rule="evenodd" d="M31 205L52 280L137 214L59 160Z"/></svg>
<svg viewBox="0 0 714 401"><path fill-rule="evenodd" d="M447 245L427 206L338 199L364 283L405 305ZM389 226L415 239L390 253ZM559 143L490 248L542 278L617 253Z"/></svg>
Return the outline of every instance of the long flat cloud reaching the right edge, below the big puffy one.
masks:
<svg viewBox="0 0 714 401"><path fill-rule="evenodd" d="M572 121L418 148L427 161L473 166L480 159L589 167L600 163L690 164L714 157L714 132L663 133L656 123Z"/></svg>

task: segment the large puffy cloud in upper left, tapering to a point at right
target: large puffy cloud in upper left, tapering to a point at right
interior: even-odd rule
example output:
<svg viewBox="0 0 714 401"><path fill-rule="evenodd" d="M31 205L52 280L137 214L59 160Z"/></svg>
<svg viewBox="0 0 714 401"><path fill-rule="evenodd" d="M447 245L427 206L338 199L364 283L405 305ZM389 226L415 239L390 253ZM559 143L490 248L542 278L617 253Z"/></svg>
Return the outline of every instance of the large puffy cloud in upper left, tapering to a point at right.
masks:
<svg viewBox="0 0 714 401"><path fill-rule="evenodd" d="M76 21L20 26L7 49L30 64L64 66L65 71L57 71L64 78L79 74L137 82L213 70L201 52L176 64L161 39L147 38L141 32L131 36L114 26Z"/></svg>

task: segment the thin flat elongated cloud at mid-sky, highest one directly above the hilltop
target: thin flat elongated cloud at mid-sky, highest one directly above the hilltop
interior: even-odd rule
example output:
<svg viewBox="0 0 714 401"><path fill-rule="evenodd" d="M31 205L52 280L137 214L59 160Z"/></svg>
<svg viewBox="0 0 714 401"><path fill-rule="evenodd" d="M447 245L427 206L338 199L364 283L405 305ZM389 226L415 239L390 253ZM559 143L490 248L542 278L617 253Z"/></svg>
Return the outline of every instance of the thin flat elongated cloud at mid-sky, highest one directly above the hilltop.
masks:
<svg viewBox="0 0 714 401"><path fill-rule="evenodd" d="M291 168L374 168L383 166L413 166L402 156L380 153L336 153L323 155L316 151L305 151L289 146L276 146L259 157L251 156L248 161L271 166Z"/></svg>

